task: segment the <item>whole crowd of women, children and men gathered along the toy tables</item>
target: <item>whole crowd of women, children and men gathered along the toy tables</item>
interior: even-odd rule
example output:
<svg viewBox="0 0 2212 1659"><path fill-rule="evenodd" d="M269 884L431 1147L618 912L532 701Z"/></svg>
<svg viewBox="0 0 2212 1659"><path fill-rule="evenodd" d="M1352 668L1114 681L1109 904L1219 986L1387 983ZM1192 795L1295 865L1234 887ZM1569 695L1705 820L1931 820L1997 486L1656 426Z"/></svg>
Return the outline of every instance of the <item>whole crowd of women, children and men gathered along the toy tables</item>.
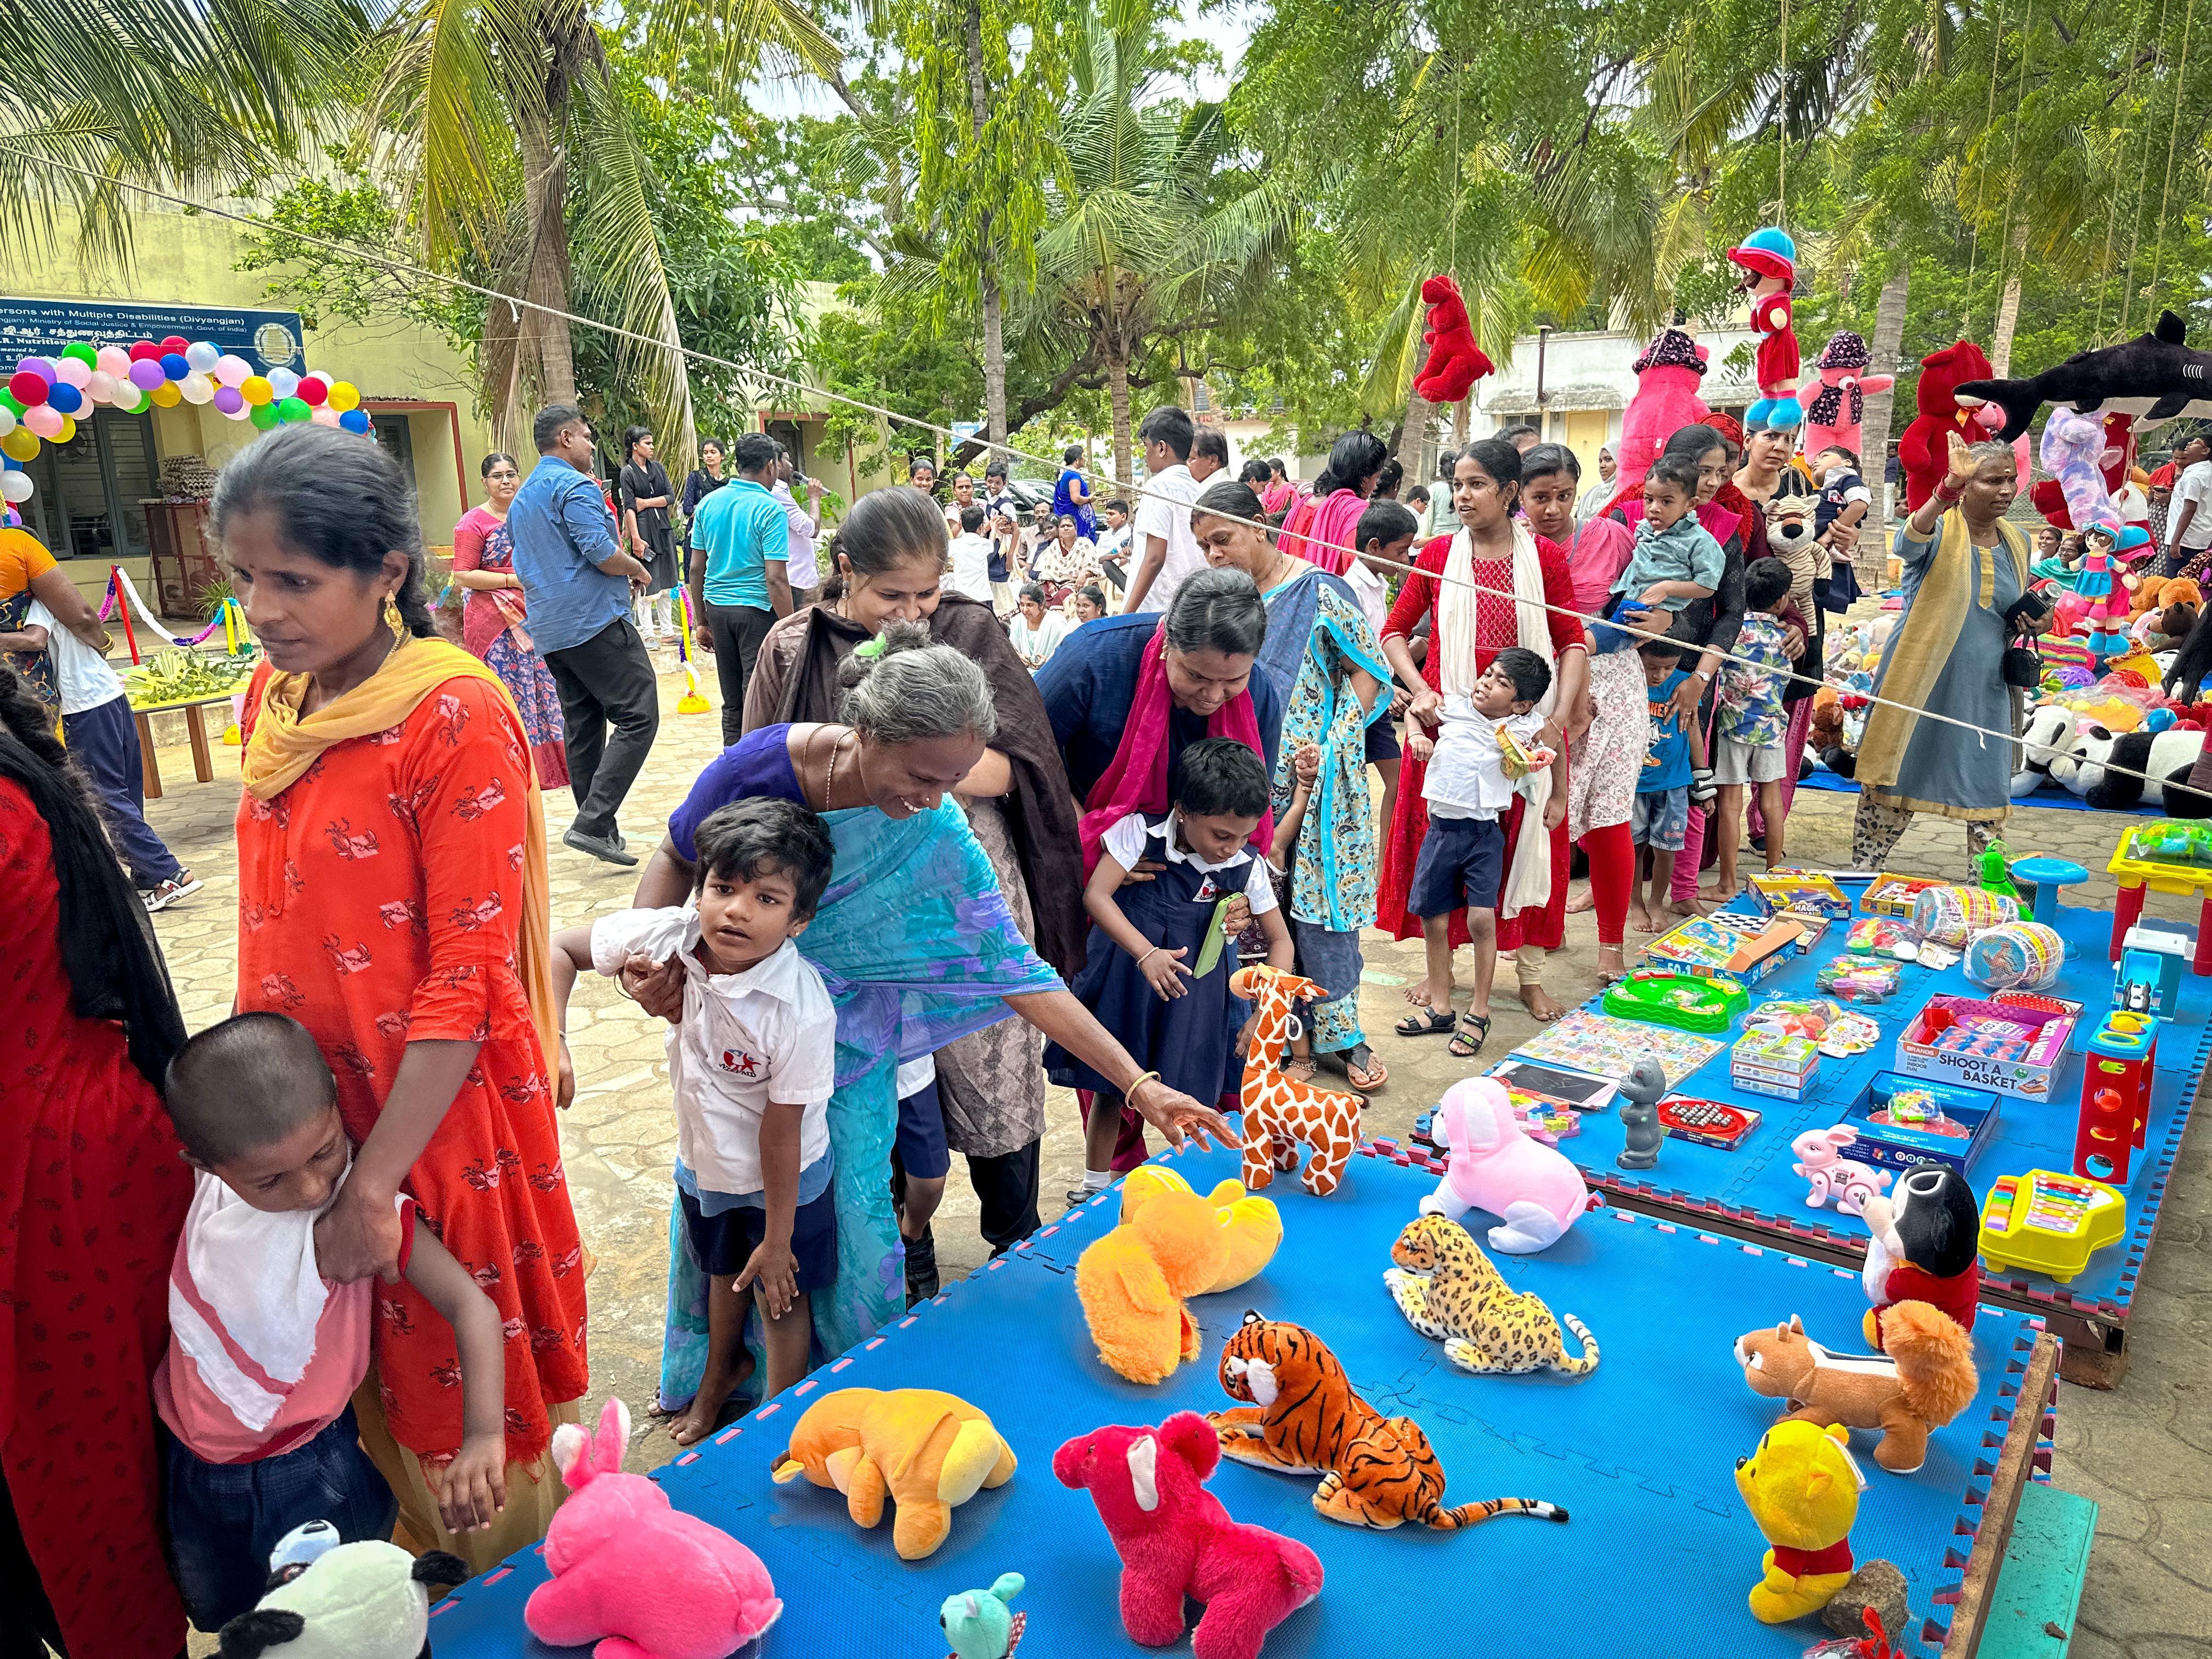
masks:
<svg viewBox="0 0 2212 1659"><path fill-rule="evenodd" d="M818 564L818 487L765 434L703 447L677 491L633 429L613 500L575 407L533 438L529 469L484 458L456 526L462 646L376 445L299 425L223 469L212 531L263 664L234 1013L210 1031L186 1035L135 898L188 874L102 781L84 710L64 748L0 672L31 1015L0 1060L0 1168L42 1214L0 1245L0 1582L80 1659L170 1655L186 1615L243 1610L299 1520L396 1522L473 1566L544 1533L549 1438L588 1387L557 1133L577 975L666 1022L659 1396L695 1442L938 1290L951 1152L993 1252L1040 1225L1048 1082L1086 1121L1071 1201L1148 1135L1232 1141L1241 960L1318 987L1292 1071L1371 1095L1365 929L1425 940L1396 1031L1473 1066L1500 956L1555 1020L1568 916L1617 978L1630 925L1730 896L1741 821L1778 863L1865 511L1856 458L1719 414L1626 487L1524 429L1398 500L1371 434L1305 491L1281 462L1230 471L1168 407L1139 427L1135 511L1095 500L1079 451L1026 522L998 465L940 498L918 460ZM1900 531L1885 697L2006 728L2015 487L2011 449L1958 445ZM1827 495L1825 540L1778 553L1770 522ZM97 617L15 557L49 639L0 644L97 653ZM726 745L633 845L648 635L686 611ZM1980 847L2006 774L2002 743L1878 706L1863 863L1916 812ZM560 841L639 867L630 909L588 925L551 914L562 785Z"/></svg>

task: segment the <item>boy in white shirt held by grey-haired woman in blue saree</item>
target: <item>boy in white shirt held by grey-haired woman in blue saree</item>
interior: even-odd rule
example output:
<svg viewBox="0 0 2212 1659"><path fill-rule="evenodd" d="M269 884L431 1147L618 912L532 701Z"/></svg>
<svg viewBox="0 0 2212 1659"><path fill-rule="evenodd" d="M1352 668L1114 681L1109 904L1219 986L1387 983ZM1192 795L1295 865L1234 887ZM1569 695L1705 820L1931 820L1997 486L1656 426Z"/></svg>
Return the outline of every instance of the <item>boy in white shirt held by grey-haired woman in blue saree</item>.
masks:
<svg viewBox="0 0 2212 1659"><path fill-rule="evenodd" d="M684 962L668 1079L677 1201L708 1274L708 1356L699 1396L672 1433L681 1447L714 1431L723 1402L752 1374L745 1287L765 1327L768 1394L781 1394L807 1371L807 1296L836 1283L836 1009L792 942L830 885L830 832L794 801L750 799L712 812L695 841L690 905L615 911L553 936L562 1026L586 967L617 975L633 951Z"/></svg>

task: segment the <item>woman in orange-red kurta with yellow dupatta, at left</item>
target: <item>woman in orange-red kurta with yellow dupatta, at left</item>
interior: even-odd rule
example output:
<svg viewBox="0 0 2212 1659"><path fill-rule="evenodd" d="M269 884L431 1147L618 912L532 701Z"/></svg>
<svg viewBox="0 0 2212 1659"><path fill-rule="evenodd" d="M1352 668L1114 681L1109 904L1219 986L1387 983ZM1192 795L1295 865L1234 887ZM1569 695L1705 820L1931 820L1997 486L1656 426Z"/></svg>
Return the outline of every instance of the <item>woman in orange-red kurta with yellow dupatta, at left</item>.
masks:
<svg viewBox="0 0 2212 1659"><path fill-rule="evenodd" d="M268 664L246 699L237 1006L288 1013L338 1077L354 1168L321 1223L334 1279L398 1265L409 1192L507 1327L507 1511L453 1537L453 1332L380 1285L361 1438L411 1542L476 1568L540 1537L546 1458L586 1387L584 1272L553 1128L546 849L513 699L431 637L414 495L374 442L288 427L215 491Z"/></svg>

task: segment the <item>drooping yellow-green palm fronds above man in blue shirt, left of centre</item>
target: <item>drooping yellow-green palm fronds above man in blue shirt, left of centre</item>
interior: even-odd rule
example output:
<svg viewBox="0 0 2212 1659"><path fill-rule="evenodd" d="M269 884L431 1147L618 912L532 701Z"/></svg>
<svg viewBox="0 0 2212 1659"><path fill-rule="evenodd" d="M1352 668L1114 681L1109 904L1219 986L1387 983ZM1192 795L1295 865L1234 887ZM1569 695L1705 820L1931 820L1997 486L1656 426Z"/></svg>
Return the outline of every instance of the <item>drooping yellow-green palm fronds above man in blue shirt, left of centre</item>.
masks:
<svg viewBox="0 0 2212 1659"><path fill-rule="evenodd" d="M633 13L637 15L637 13ZM641 18L648 55L734 104L752 69L834 80L836 40L801 0L661 0ZM708 42L706 62L690 42ZM380 35L361 144L403 139L431 263L473 259L526 305L493 303L480 369L493 420L531 400L575 400L562 312L575 310L577 254L604 272L604 314L633 336L617 369L637 374L672 462L692 451L668 270L653 230L648 164L624 111L606 40L584 0L405 0ZM843 82L836 80L838 88ZM542 307L542 310L540 310ZM646 343L650 341L650 343Z"/></svg>

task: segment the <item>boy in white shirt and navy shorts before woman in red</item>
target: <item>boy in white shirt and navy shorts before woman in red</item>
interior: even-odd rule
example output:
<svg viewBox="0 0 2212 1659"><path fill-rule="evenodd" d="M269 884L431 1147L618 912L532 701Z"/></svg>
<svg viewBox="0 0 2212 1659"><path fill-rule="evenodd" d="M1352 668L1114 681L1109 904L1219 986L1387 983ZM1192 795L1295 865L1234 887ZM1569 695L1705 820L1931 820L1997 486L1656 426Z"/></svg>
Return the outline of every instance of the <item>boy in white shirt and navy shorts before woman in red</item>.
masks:
<svg viewBox="0 0 2212 1659"><path fill-rule="evenodd" d="M1398 1035L1451 1033L1451 1057L1473 1060L1491 1035L1491 980L1498 973L1498 889L1506 874L1506 832L1498 816L1513 805L1520 779L1551 768L1544 832L1566 816L1566 741L1537 710L1551 690L1551 664L1506 646L1475 681L1473 695L1447 697L1436 737L1407 723L1407 750L1429 763L1422 796L1429 834L1420 841L1407 911L1420 916L1429 951L1429 1006L1398 1022ZM1511 752L1509 752L1511 743ZM1551 750L1548 757L1542 750ZM1511 759L1511 768L1509 768ZM1522 821L1522 834L1537 827ZM1467 907L1475 947L1475 984L1467 1015L1451 1020L1451 914Z"/></svg>

